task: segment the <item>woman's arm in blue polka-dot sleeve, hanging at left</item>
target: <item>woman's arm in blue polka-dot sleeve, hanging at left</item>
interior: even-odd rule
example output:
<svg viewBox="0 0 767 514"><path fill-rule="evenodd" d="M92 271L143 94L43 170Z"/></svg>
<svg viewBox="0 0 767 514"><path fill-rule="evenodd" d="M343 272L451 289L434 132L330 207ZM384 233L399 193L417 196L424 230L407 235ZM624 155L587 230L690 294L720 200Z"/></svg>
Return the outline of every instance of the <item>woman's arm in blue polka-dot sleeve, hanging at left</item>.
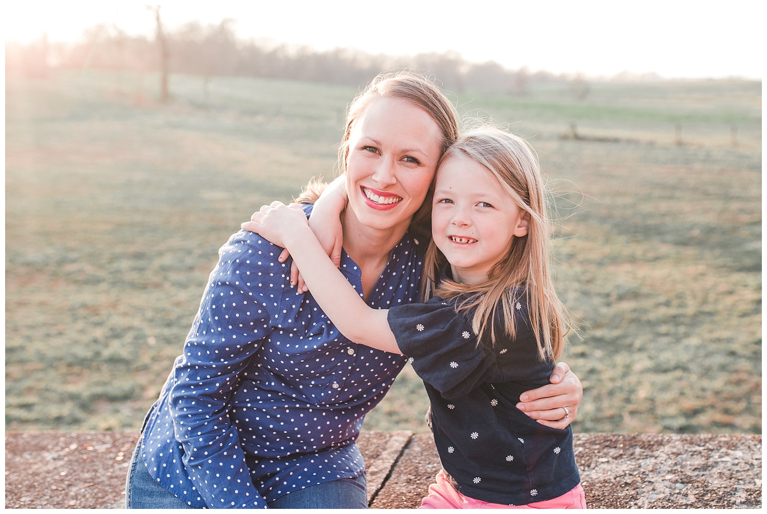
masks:
<svg viewBox="0 0 767 514"><path fill-rule="evenodd" d="M275 266L278 272L267 259L263 264L239 259L249 250L268 246L258 246L255 240L260 238L239 232L219 250L219 264L210 273L170 390L170 416L176 439L183 445L184 467L206 505L214 508L266 506L252 483L239 431L229 415L241 374L271 334L271 320L280 312L271 297L274 290L255 280L242 283L240 277L271 272L281 273L285 280L288 273L285 264ZM224 470L225 480L212 479Z"/></svg>

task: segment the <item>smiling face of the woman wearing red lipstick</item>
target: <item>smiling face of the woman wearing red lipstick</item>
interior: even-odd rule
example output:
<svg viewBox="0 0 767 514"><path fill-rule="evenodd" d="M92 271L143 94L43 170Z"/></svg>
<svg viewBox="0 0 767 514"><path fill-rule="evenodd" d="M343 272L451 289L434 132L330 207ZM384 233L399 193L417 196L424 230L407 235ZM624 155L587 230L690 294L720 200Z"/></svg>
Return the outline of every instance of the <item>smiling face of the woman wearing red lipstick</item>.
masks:
<svg viewBox="0 0 767 514"><path fill-rule="evenodd" d="M434 178L442 133L425 110L400 98L372 100L349 136L347 195L368 228L402 232Z"/></svg>

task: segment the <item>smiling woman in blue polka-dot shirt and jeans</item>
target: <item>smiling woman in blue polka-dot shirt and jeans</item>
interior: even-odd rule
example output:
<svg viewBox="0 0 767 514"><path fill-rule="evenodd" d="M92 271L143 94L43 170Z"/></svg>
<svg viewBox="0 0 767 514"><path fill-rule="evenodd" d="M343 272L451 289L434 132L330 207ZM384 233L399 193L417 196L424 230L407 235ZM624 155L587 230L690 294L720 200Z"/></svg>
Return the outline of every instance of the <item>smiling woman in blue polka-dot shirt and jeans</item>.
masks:
<svg viewBox="0 0 767 514"><path fill-rule="evenodd" d="M453 105L417 74L380 75L350 106L341 270L368 305L419 301L425 244L408 228L457 136ZM310 294L296 294L280 253L246 231L219 250L183 355L144 421L129 508L367 507L354 441L404 358L341 336ZM552 380L565 373L530 391L539 399L522 410L567 426L581 388L566 365Z"/></svg>

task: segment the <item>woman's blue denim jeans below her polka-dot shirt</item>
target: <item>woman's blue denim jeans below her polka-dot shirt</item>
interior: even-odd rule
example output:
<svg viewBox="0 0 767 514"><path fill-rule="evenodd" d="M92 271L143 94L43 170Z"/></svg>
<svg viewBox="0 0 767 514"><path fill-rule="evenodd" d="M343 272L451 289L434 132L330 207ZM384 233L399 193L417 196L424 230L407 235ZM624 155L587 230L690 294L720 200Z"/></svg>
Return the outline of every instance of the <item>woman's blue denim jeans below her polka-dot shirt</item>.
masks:
<svg viewBox="0 0 767 514"><path fill-rule="evenodd" d="M141 440L133 451L125 482L127 509L192 509L176 498L149 474L141 459ZM367 509L365 476L318 483L280 496L268 503L270 509Z"/></svg>

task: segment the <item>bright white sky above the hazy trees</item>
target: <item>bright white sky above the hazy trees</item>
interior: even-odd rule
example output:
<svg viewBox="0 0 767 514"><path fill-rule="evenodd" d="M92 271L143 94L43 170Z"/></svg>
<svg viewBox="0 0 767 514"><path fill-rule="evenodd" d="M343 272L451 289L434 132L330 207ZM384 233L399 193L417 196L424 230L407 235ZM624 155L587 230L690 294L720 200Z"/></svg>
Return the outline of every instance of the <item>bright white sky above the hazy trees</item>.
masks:
<svg viewBox="0 0 767 514"><path fill-rule="evenodd" d="M612 76L624 70L663 77L760 79L764 72L763 0L268 0L163 5L168 28L234 18L242 38L354 47L370 53L457 51L469 61L510 69ZM7 2L5 40L76 41L84 28L117 24L153 34L152 12L137 3Z"/></svg>

